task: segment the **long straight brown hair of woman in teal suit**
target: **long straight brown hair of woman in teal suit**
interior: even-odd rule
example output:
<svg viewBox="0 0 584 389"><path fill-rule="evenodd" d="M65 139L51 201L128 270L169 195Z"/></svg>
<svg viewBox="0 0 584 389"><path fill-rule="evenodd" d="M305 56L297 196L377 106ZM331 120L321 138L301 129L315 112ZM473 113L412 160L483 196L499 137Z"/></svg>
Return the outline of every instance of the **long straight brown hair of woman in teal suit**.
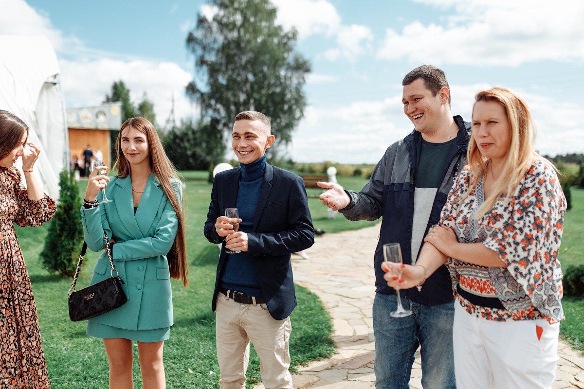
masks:
<svg viewBox="0 0 584 389"><path fill-rule="evenodd" d="M181 279L183 285L186 287L189 285L189 268L186 260L185 215L182 211L180 199L176 197L175 191L172 188L171 178L178 181L179 185L182 185L182 183L171 160L168 159L168 156L164 152L154 125L142 117L129 118L121 125L120 134L116 139L117 160L114 164L114 168L117 169L116 177L124 178L130 174L130 163L124 156L124 153L121 152L121 133L125 128L130 127L146 135L148 149L150 151L150 167L154 173L154 177L162 185L162 190L171 202L172 208L175 209L176 216L178 217L179 226L176 231L175 241L166 258L168 258L171 277Z"/></svg>

